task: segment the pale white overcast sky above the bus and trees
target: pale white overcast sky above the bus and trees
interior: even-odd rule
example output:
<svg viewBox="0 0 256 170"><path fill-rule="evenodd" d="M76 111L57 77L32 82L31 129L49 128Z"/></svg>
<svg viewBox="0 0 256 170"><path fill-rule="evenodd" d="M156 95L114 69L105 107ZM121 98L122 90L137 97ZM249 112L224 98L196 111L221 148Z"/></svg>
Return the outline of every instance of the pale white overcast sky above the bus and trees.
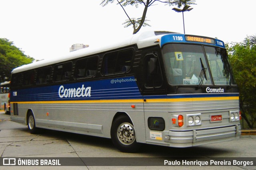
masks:
<svg viewBox="0 0 256 170"><path fill-rule="evenodd" d="M124 28L128 18L116 4L100 6L102 0L0 0L0 38L36 60L61 57L73 44L99 46L132 35ZM186 34L217 37L225 43L241 42L256 35L256 0L195 0L184 12ZM158 2L148 8L151 27L139 32L174 31L183 33L182 13L176 6ZM130 18L140 18L143 6L126 6ZM89 48L90 48L89 47Z"/></svg>

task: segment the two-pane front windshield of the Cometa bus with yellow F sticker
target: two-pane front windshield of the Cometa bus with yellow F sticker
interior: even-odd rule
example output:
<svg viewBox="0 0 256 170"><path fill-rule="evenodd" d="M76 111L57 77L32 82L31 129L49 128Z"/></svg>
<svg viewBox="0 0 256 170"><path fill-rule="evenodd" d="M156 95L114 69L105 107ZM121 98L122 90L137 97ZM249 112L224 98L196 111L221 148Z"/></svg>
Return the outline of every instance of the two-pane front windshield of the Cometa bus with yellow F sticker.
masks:
<svg viewBox="0 0 256 170"><path fill-rule="evenodd" d="M204 49L207 57L204 55ZM230 67L224 49L210 46L203 48L202 45L167 44L163 47L163 58L170 85L230 84Z"/></svg>

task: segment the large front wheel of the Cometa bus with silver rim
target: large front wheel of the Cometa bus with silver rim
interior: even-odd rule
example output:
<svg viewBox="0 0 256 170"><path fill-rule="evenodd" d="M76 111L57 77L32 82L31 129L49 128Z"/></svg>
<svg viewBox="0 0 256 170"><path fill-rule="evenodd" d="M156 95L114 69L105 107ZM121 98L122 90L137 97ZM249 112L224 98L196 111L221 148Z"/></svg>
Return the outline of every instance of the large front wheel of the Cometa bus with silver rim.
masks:
<svg viewBox="0 0 256 170"><path fill-rule="evenodd" d="M121 115L114 120L110 135L115 147L122 152L136 152L140 148L141 144L136 141L132 121L126 115Z"/></svg>

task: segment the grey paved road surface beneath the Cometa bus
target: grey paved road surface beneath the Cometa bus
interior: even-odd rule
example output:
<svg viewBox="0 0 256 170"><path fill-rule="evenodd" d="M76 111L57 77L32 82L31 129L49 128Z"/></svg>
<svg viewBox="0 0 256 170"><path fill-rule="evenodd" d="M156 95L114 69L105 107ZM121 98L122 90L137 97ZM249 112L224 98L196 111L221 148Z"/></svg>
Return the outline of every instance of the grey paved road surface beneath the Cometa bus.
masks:
<svg viewBox="0 0 256 170"><path fill-rule="evenodd" d="M34 170L34 169L226 169L255 170L256 166L133 166L134 162L142 164L155 161L159 157L190 157L194 160L218 160L218 158L255 158L256 135L243 135L240 139L190 148L172 148L154 145L143 145L137 153L123 153L117 150L110 139L52 131L42 129L32 135L25 125L10 121L10 115L0 112L0 155L2 158L77 158L81 166L0 166L1 170ZM126 166L90 166L83 158L110 158ZM145 160L143 158L146 158ZM142 159L142 160L141 160ZM98 160L98 159L97 159ZM99 161L99 160L98 160ZM148 161L148 162L147 162ZM256 162L254 162L256 163ZM163 162L164 164L164 162ZM79 164L80 165L80 164ZM100 164L99 162L99 165ZM114 164L116 165L116 164ZM129 165L129 166L128 166Z"/></svg>

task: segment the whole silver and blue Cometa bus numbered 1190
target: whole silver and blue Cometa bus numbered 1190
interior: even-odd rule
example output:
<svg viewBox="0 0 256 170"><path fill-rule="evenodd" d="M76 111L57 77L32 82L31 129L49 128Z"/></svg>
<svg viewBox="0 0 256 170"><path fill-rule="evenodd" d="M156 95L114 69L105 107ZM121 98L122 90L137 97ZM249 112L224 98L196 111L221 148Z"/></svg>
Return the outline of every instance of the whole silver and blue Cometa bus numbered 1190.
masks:
<svg viewBox="0 0 256 170"><path fill-rule="evenodd" d="M49 54L50 55L50 54ZM223 41L147 31L15 68L11 120L142 143L192 147L239 139L238 86Z"/></svg>

